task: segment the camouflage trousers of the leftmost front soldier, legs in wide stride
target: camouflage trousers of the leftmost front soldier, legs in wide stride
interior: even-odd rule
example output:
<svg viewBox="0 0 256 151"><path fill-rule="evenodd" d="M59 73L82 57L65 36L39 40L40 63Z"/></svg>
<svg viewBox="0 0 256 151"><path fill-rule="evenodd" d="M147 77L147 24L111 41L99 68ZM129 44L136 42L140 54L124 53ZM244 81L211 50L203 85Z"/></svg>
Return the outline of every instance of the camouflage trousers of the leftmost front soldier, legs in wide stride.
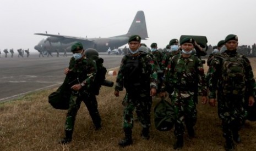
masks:
<svg viewBox="0 0 256 151"><path fill-rule="evenodd" d="M97 100L95 95L79 95L72 94L69 100L69 109L66 117L65 130L73 131L74 130L74 122L75 117L77 116L77 112L80 108L81 101L83 101L89 111L91 119L96 127L101 125L101 117L99 111L97 109Z"/></svg>

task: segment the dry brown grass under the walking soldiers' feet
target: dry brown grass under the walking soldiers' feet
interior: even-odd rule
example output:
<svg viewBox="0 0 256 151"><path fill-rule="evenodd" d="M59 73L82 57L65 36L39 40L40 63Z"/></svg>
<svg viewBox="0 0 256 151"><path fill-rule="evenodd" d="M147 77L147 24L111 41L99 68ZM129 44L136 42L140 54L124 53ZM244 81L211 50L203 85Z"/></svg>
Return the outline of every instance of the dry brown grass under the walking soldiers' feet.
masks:
<svg viewBox="0 0 256 151"><path fill-rule="evenodd" d="M256 59L251 59L256 67ZM256 75L254 71L254 75ZM107 77L115 81L114 77ZM113 88L103 87L99 102L102 129L95 131L88 111L82 102L79 109L73 141L68 145L58 144L64 136L67 111L57 110L47 102L48 95L55 89L34 92L17 100L0 104L0 150L172 150L175 139L173 130L160 132L154 128L152 119L150 140L140 137L141 126L134 123L132 146L121 148L118 141L123 138L121 96L113 95ZM154 97L153 107L159 101ZM153 118L153 112L151 112ZM255 150L256 123L247 121L241 130L242 143L237 150ZM221 123L217 108L198 104L196 137L189 140L185 133L183 150L224 150Z"/></svg>

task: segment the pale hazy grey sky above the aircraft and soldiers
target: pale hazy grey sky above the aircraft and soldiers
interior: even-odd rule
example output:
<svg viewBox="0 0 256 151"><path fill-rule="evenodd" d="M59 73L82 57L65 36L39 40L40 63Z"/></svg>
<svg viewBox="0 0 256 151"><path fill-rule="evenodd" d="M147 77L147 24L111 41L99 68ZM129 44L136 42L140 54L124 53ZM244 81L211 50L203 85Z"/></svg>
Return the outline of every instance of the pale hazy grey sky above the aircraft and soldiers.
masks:
<svg viewBox="0 0 256 151"><path fill-rule="evenodd" d="M255 0L0 0L0 49L34 50L46 36L95 38L126 34L135 14L143 10L148 46L164 48L182 34L206 36L216 45L237 34L239 45L256 43Z"/></svg>

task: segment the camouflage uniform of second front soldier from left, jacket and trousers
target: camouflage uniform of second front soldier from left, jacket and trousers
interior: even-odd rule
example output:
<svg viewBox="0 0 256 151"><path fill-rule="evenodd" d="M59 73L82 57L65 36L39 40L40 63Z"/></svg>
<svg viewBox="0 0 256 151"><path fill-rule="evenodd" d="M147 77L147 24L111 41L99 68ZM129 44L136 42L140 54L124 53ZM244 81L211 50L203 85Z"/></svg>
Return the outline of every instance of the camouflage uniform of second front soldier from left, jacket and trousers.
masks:
<svg viewBox="0 0 256 151"><path fill-rule="evenodd" d="M137 57L139 57L139 59ZM133 65L136 61L138 61L138 72L133 72L134 70L130 69L129 65ZM127 133L130 135L129 137L132 135L134 109L136 109L138 120L144 130L149 132L152 104L150 89L156 88L157 83L155 68L154 61L145 53L140 53L138 56L128 54L123 56L121 61L115 90L122 91L123 88L126 88L127 99L125 98L123 102L123 129L126 135Z"/></svg>

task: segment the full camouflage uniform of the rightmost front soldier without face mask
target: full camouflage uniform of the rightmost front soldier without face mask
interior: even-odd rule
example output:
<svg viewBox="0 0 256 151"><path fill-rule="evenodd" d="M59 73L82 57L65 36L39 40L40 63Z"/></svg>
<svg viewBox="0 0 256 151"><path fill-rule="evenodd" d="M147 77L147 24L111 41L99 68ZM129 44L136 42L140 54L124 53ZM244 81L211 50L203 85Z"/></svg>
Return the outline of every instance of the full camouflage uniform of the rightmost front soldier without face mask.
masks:
<svg viewBox="0 0 256 151"><path fill-rule="evenodd" d="M225 60L236 59L236 62L241 62L243 65L243 73L245 77L242 79L239 76L232 77L232 74L227 75L222 70L225 66ZM232 71L241 71L238 66L228 68ZM245 100L244 94L246 89L249 95L255 96L255 80L253 77L252 67L246 56L238 54L237 51L226 50L222 54L216 54L211 61L208 71L209 76L209 98L216 98L218 102L218 114L222 120L223 136L227 140L232 140L234 135L241 129L244 123L246 112L244 110ZM226 79L231 79L232 83L226 83ZM235 84L235 85L233 85Z"/></svg>

